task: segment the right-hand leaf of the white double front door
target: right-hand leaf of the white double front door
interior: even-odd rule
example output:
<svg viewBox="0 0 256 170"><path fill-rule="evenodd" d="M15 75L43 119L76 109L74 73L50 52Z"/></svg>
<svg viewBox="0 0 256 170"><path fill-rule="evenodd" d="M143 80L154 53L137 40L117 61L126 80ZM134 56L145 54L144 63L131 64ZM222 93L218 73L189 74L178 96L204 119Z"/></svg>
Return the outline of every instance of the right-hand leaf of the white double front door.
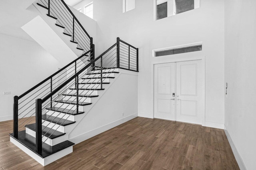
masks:
<svg viewBox="0 0 256 170"><path fill-rule="evenodd" d="M201 61L176 63L176 121L202 124Z"/></svg>

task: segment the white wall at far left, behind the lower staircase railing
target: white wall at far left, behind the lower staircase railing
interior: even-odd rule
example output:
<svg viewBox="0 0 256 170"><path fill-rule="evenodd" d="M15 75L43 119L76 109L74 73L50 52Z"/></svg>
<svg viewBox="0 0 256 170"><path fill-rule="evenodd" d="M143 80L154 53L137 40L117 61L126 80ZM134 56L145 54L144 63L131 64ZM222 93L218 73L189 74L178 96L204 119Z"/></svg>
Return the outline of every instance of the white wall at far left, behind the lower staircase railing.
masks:
<svg viewBox="0 0 256 170"><path fill-rule="evenodd" d="M3 34L0 61L0 121L12 119L13 96L21 95L62 67L37 43Z"/></svg>

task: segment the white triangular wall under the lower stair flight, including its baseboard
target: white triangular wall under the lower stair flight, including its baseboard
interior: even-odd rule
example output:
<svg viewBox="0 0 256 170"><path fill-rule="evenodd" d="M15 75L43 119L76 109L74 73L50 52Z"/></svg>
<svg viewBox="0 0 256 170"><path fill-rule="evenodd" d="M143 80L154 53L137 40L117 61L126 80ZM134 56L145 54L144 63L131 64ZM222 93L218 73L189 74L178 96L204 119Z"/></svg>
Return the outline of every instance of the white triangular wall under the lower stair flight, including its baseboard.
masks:
<svg viewBox="0 0 256 170"><path fill-rule="evenodd" d="M68 133L69 141L80 143L138 117L138 72L120 68L118 72L97 102L75 123Z"/></svg>

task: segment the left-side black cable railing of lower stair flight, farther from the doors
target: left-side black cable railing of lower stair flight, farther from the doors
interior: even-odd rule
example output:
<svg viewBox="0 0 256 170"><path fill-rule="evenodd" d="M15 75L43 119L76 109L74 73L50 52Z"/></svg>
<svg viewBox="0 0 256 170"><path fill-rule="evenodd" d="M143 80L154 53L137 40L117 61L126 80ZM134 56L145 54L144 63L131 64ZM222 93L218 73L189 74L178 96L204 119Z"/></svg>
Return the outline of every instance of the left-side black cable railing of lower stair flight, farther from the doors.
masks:
<svg viewBox="0 0 256 170"><path fill-rule="evenodd" d="M90 49L42 82L36 84L30 90L20 96L14 96L14 137L18 137L18 131L23 130L30 122L35 121L36 99L44 98L44 96L50 94L69 77L86 66L93 51L93 49ZM53 99L49 98L48 102L52 105Z"/></svg>

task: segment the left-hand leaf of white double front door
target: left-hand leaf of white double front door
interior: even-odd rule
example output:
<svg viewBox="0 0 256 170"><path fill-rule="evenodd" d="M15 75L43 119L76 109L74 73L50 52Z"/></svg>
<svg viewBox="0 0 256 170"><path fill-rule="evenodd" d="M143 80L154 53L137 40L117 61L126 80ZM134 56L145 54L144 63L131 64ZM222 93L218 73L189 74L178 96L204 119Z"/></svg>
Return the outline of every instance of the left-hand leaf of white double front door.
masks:
<svg viewBox="0 0 256 170"><path fill-rule="evenodd" d="M175 120L175 63L154 66L154 117Z"/></svg>

